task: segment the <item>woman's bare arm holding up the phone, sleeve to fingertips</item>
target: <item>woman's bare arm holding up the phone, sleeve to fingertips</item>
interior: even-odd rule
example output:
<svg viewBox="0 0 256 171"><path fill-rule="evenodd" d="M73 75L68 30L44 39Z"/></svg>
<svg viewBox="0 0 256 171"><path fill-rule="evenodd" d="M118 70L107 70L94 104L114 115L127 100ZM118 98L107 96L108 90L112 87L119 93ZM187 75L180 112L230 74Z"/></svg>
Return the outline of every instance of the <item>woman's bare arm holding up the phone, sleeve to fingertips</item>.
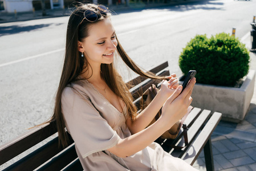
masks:
<svg viewBox="0 0 256 171"><path fill-rule="evenodd" d="M195 83L196 79L192 79L181 95L180 92L182 86L179 86L172 96L166 100L162 107L162 115L154 124L125 139L120 139L115 146L108 149L109 152L119 157L127 157L143 150L155 141L162 135L162 133L168 130L174 123L185 115L192 102L192 97L190 97L190 95Z"/></svg>

